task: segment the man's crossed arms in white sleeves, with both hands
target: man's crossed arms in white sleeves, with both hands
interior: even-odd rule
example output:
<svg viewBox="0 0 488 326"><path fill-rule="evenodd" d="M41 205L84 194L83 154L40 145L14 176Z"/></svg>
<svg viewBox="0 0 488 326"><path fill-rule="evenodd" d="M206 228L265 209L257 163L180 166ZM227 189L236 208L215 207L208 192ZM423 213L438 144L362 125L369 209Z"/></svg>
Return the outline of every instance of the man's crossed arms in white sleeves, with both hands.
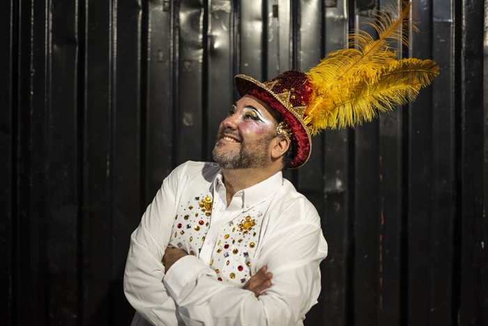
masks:
<svg viewBox="0 0 488 326"><path fill-rule="evenodd" d="M257 272L237 288L194 255L167 249L174 218L163 216L174 216L176 201L167 188L163 183L131 235L124 277L130 304L154 325L301 325L317 302L327 251L313 206L298 200L268 223Z"/></svg>

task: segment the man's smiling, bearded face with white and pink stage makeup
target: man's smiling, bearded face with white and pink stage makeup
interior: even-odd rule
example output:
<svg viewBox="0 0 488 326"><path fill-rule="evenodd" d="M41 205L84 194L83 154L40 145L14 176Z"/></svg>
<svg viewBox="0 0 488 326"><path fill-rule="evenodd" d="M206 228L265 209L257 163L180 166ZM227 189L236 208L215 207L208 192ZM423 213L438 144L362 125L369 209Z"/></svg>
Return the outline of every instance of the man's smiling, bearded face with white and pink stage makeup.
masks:
<svg viewBox="0 0 488 326"><path fill-rule="evenodd" d="M270 142L277 122L269 108L253 96L243 96L222 121L212 151L224 169L261 168L270 162Z"/></svg>

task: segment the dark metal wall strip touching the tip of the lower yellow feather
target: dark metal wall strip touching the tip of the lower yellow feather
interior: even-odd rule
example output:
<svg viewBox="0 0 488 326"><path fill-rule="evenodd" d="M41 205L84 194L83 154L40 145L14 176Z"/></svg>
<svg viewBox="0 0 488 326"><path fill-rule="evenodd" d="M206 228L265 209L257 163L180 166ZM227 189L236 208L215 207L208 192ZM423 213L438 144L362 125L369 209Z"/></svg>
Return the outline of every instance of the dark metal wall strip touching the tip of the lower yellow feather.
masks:
<svg viewBox="0 0 488 326"><path fill-rule="evenodd" d="M457 315L456 269L452 259L455 247L456 176L456 105L455 105L455 16L454 1L432 2L432 56L441 67L441 75L432 85L432 210L430 217L431 252L429 280L431 325L450 325Z"/></svg>

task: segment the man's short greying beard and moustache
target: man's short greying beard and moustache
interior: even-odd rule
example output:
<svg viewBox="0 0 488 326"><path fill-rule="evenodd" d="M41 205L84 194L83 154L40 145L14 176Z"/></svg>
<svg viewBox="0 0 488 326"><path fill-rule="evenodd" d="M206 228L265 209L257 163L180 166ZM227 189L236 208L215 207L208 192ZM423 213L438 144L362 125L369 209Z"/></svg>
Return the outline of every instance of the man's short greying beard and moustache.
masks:
<svg viewBox="0 0 488 326"><path fill-rule="evenodd" d="M213 147L213 160L220 165L220 168L227 170L262 168L268 162L268 146L274 135L254 140L252 142L241 142L239 149L224 149L219 143Z"/></svg>

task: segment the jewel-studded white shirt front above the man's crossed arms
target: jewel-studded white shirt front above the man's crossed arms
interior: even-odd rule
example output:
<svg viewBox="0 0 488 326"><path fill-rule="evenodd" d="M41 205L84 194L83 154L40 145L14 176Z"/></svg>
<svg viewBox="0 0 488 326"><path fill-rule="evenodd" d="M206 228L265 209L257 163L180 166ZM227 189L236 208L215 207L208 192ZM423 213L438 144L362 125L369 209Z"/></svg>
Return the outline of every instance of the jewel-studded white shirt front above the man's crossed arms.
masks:
<svg viewBox="0 0 488 326"><path fill-rule="evenodd" d="M256 270L263 207L230 212L218 222L212 220L214 210L211 193L196 192L182 200L174 216L171 244L208 263L219 281L242 287Z"/></svg>

